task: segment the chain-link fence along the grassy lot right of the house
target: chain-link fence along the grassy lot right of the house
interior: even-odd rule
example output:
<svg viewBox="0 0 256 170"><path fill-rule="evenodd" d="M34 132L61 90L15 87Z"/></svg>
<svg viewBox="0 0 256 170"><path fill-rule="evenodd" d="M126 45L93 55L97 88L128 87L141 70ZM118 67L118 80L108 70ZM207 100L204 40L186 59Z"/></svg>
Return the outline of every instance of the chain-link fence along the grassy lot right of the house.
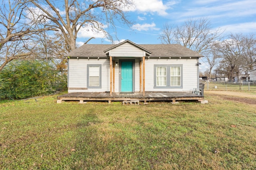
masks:
<svg viewBox="0 0 256 170"><path fill-rule="evenodd" d="M252 91L256 92L256 82L226 82L226 81L200 81L204 84L204 90L222 91Z"/></svg>

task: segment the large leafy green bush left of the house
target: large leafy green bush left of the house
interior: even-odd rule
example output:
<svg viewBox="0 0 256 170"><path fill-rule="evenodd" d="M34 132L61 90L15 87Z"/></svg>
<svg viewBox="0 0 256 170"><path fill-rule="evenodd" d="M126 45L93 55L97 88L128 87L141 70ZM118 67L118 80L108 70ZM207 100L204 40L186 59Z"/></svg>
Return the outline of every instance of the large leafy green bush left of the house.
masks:
<svg viewBox="0 0 256 170"><path fill-rule="evenodd" d="M66 86L66 79L44 61L14 61L0 72L0 98L21 99L51 94Z"/></svg>

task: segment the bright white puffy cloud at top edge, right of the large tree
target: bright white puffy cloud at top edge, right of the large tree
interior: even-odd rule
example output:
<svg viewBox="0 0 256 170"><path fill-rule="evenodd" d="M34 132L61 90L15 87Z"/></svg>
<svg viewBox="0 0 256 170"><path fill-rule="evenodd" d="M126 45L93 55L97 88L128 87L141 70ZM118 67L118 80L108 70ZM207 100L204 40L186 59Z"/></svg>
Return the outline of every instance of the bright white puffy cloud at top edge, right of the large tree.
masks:
<svg viewBox="0 0 256 170"><path fill-rule="evenodd" d="M157 13L160 16L165 16L168 13L166 10L170 9L172 5L176 4L175 0L163 3L162 0L136 0L135 8L130 8L130 11L138 11L143 13Z"/></svg>

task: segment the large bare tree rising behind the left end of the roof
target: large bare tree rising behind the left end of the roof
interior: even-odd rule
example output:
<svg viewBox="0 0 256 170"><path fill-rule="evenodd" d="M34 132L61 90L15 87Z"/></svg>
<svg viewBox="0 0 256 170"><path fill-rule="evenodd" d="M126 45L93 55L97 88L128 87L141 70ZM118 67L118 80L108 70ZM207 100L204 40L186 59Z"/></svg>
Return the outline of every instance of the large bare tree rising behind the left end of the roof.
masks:
<svg viewBox="0 0 256 170"><path fill-rule="evenodd" d="M114 26L116 20L131 24L125 9L133 5L132 0L32 0L31 3L37 7L34 13L40 9L41 15L60 29L71 50L76 49L76 37L82 27L88 31L103 31L111 39L104 23L108 27ZM60 11L63 4L64 9Z"/></svg>

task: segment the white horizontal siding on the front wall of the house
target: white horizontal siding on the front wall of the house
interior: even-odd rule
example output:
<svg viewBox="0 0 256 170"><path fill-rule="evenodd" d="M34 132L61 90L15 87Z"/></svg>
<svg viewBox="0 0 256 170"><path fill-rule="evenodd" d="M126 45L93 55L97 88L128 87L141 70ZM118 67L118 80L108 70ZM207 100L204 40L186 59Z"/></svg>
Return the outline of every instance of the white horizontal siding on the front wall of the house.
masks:
<svg viewBox="0 0 256 170"><path fill-rule="evenodd" d="M130 57L115 57L115 92L119 91L119 59L131 59ZM198 87L197 59L146 59L145 61L145 91L146 92L192 92ZM88 88L87 90L68 90L68 92L109 92L110 91L110 61L109 59L68 59L68 88L88 88L87 66L88 64L100 64L101 88ZM155 88L154 65L182 65L181 86ZM142 64L143 66L143 64ZM135 58L135 87L134 91L140 90L140 58ZM170 74L170 70L167 70ZM166 73L167 73L166 72ZM143 73L142 73L143 76ZM170 77L169 77L170 78ZM142 81L142 80L141 80ZM142 81L143 82L143 81Z"/></svg>

